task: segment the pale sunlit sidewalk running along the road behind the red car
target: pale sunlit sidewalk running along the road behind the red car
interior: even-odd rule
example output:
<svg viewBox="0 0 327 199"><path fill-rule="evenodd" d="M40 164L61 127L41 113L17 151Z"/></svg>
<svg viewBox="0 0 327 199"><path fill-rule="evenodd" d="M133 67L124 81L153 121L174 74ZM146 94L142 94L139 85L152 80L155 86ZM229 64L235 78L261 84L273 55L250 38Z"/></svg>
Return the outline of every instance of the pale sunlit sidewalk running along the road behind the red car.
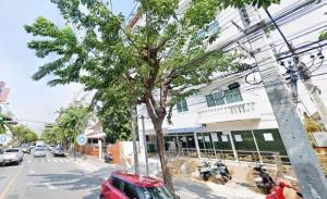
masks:
<svg viewBox="0 0 327 199"><path fill-rule="evenodd" d="M69 157L74 160L73 157ZM94 157L77 156L74 161L82 170L87 171L90 176L101 179L108 178L111 172L122 170L134 173L134 166L120 166L107 164L102 160ZM150 176L155 176L160 171L158 157L148 159ZM140 173L145 174L145 165L140 164ZM189 176L174 176L173 184L177 194L181 199L265 199L264 195L256 194L249 188L237 183L218 185L211 182L202 182L190 178Z"/></svg>

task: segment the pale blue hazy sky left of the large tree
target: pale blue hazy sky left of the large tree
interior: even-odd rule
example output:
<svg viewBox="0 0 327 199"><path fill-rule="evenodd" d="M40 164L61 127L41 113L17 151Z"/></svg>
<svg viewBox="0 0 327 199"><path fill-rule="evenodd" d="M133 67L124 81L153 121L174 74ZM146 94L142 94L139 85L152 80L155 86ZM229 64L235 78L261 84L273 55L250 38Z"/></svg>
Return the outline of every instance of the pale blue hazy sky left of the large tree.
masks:
<svg viewBox="0 0 327 199"><path fill-rule="evenodd" d="M133 0L112 0L114 12L129 15ZM1 0L0 1L0 82L11 89L8 110L22 123L41 133L45 122L53 122L56 111L66 107L80 85L47 86L47 78L35 82L31 78L43 63L26 43L32 39L24 25L45 16L57 25L64 24L58 9L50 0ZM48 78L49 79L49 78ZM32 122L35 121L35 122Z"/></svg>

